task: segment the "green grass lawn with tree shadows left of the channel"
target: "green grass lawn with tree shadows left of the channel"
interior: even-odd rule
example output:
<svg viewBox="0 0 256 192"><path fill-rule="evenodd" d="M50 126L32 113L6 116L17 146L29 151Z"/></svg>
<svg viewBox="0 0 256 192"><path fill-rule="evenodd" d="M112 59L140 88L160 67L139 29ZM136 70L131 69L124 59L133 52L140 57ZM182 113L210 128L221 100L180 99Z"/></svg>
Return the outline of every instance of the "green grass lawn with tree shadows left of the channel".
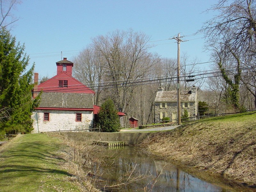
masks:
<svg viewBox="0 0 256 192"><path fill-rule="evenodd" d="M0 148L0 191L79 191L72 176L60 168L60 140L26 134Z"/></svg>

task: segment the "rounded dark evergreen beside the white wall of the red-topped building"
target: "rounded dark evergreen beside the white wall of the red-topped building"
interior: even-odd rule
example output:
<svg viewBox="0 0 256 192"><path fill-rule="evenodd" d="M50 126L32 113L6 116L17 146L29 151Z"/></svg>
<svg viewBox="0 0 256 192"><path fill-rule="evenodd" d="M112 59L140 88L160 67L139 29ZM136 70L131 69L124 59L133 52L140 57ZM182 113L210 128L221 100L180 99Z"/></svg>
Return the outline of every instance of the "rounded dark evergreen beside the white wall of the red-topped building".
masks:
<svg viewBox="0 0 256 192"><path fill-rule="evenodd" d="M102 132L117 132L120 130L118 111L111 99L107 99L98 113L98 125Z"/></svg>

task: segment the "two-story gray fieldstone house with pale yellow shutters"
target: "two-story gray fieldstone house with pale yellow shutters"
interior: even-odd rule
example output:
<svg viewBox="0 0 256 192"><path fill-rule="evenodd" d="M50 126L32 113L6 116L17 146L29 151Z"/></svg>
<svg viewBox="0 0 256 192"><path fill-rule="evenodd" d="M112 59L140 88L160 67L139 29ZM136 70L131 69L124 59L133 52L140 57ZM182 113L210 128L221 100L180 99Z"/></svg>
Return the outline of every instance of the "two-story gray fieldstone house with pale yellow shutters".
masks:
<svg viewBox="0 0 256 192"><path fill-rule="evenodd" d="M185 109L188 116L196 116L198 113L198 101L196 86L192 86L190 91L180 91L181 116ZM158 88L155 98L155 121L161 121L163 117L170 117L172 122L177 119L177 91L164 91Z"/></svg>

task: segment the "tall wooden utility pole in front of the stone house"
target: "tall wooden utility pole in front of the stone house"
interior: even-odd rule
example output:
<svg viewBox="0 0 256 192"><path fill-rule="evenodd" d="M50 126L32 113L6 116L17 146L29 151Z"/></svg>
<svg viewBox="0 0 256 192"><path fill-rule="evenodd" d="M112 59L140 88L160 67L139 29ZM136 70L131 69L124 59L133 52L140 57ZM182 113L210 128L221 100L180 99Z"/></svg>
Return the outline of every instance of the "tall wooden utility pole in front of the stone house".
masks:
<svg viewBox="0 0 256 192"><path fill-rule="evenodd" d="M180 34L178 34L178 37L173 37L178 44L178 57L177 57L177 124L181 124L181 113L180 113L180 42L182 41L180 39ZM182 41L183 42L183 41Z"/></svg>

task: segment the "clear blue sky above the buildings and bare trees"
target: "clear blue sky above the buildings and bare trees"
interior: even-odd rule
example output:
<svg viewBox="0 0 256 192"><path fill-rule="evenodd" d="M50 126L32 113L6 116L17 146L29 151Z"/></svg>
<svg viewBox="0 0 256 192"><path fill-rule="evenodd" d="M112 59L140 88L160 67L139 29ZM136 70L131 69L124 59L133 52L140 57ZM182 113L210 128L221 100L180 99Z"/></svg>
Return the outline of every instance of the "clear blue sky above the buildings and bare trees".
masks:
<svg viewBox="0 0 256 192"><path fill-rule="evenodd" d="M204 11L215 3L216 0L23 0L12 11L19 18L12 35L25 43L39 77L56 75L61 52L69 60L93 37L116 29L144 32L156 41L151 52L168 58L177 58L177 43L164 39L180 33L187 36L183 40L189 40L181 43L181 54L187 52L191 60L197 57L207 62L203 35L192 34L212 18L212 13Z"/></svg>

